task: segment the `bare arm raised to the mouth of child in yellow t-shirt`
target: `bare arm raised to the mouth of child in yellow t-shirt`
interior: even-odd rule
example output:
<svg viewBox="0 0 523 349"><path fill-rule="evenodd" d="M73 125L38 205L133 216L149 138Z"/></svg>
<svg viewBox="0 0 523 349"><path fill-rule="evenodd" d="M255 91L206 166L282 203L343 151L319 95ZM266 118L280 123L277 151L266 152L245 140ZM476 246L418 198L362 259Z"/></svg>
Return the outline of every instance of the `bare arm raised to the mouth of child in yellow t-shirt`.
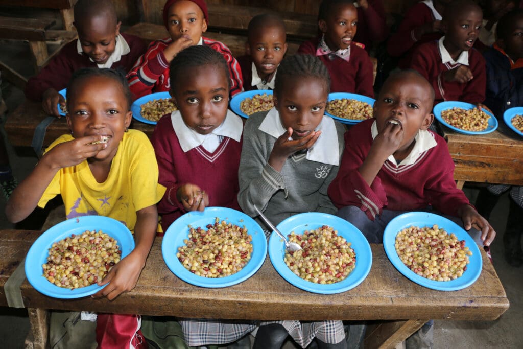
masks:
<svg viewBox="0 0 523 349"><path fill-rule="evenodd" d="M82 137L60 143L44 154L35 169L9 197L5 208L7 219L13 223L25 219L37 207L56 172L63 167L77 165L107 147L106 143L90 144L95 141L101 141L101 136Z"/></svg>

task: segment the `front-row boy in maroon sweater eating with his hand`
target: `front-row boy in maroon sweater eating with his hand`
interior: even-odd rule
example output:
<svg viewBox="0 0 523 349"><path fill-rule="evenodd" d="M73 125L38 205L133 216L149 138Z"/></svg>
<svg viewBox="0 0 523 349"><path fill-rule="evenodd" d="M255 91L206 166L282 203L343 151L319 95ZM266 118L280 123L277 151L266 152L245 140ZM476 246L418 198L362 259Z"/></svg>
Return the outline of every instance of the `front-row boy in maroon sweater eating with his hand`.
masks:
<svg viewBox="0 0 523 349"><path fill-rule="evenodd" d="M481 230L469 233L488 246L494 229L456 187L447 143L428 130L433 101L433 88L417 72L391 75L374 104L374 119L345 133L342 163L328 195L338 216L370 242L381 242L397 215L433 207L465 230Z"/></svg>

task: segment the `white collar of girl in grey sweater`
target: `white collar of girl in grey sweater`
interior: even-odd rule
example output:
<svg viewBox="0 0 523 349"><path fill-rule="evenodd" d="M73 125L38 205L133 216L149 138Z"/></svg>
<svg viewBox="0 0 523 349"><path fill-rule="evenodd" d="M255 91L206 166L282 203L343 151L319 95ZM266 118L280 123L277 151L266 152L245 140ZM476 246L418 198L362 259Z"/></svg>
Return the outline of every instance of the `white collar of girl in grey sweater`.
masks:
<svg viewBox="0 0 523 349"><path fill-rule="evenodd" d="M269 110L258 129L274 138L278 138L286 132L286 129L281 125L280 114L276 108ZM338 166L339 143L334 120L324 115L315 131L322 131L322 134L309 149L305 158L310 161Z"/></svg>

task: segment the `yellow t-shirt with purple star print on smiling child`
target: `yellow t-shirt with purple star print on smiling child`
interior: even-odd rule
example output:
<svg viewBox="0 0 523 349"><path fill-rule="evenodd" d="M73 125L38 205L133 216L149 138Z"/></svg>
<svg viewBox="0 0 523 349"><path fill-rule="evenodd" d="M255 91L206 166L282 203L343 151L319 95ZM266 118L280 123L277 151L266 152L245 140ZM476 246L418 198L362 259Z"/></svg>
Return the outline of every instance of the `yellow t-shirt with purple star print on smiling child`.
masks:
<svg viewBox="0 0 523 349"><path fill-rule="evenodd" d="M47 149L71 141L70 134L64 134ZM99 215L116 219L134 230L136 212L155 205L165 193L165 187L158 184L158 164L151 142L138 130L123 134L111 170L104 183L96 182L87 160L61 168L43 193L39 207L61 194L67 219Z"/></svg>

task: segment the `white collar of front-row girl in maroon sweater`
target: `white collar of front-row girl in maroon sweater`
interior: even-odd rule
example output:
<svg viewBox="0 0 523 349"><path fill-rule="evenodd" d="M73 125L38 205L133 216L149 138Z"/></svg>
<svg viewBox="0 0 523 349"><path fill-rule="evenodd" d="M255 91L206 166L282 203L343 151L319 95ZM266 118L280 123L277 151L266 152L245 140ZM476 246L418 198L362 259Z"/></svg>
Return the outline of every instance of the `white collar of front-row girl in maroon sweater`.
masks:
<svg viewBox="0 0 523 349"><path fill-rule="evenodd" d="M185 153L193 148L199 147L205 140L205 137L200 137L201 135L198 132L185 125L179 110L175 110L170 114L170 120L173 124L176 137L178 137L178 141L180 142L181 149ZM215 128L211 134L214 134L215 136L229 137L240 142L242 132L242 119L228 109L225 120L223 120L222 124Z"/></svg>

